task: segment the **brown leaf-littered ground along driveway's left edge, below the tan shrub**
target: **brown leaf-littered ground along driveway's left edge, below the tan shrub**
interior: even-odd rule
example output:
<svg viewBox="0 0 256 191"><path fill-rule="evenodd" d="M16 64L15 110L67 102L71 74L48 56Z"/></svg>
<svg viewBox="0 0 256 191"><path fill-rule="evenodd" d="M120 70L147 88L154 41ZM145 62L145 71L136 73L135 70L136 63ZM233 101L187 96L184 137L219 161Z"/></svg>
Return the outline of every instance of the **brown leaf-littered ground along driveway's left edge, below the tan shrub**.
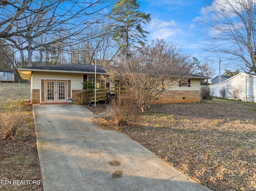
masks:
<svg viewBox="0 0 256 191"><path fill-rule="evenodd" d="M14 137L2 139L0 128L0 190L42 191L32 106L24 103L20 112L24 124Z"/></svg>

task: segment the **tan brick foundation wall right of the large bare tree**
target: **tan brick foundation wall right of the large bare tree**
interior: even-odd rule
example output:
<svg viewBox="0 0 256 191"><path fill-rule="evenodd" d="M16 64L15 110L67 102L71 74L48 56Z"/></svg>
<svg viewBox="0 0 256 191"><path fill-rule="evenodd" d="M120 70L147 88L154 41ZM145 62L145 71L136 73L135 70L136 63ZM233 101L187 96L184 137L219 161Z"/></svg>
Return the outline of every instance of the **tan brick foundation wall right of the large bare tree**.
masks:
<svg viewBox="0 0 256 191"><path fill-rule="evenodd" d="M164 91L154 103L200 102L200 91Z"/></svg>

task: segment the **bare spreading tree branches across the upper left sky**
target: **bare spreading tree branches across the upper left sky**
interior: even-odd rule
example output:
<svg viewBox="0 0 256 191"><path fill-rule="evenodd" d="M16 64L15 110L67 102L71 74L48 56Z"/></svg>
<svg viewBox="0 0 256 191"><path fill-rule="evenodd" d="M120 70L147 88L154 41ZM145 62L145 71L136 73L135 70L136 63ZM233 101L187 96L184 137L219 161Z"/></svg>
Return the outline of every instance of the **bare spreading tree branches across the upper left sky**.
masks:
<svg viewBox="0 0 256 191"><path fill-rule="evenodd" d="M61 43L64 49L70 43L86 41L95 34L84 35L91 28L102 25L110 14L113 0L9 0L0 1L0 39L9 45L28 51L31 65L32 51ZM37 38L46 35L41 43ZM58 38L54 38L58 34ZM64 43L68 39L68 44Z"/></svg>

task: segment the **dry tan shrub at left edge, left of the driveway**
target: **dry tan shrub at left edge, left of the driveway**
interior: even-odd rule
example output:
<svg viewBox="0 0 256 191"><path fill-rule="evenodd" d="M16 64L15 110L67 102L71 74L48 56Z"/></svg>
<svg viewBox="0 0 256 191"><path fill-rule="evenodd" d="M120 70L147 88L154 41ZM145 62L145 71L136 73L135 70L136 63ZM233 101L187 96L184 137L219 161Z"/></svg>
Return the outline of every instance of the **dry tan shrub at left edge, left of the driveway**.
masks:
<svg viewBox="0 0 256 191"><path fill-rule="evenodd" d="M4 133L4 139L14 137L20 126L23 124L24 114L20 112L20 107L13 104L0 113L0 123Z"/></svg>

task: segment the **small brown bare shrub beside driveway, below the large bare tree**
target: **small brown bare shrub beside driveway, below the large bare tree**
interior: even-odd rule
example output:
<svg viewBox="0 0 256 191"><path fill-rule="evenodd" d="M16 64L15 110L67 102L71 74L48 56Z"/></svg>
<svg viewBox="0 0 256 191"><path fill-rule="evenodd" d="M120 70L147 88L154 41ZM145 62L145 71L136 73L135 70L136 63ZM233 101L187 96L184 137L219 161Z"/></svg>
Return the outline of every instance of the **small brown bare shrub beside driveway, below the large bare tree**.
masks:
<svg viewBox="0 0 256 191"><path fill-rule="evenodd" d="M131 103L131 98L118 100L115 97L110 100L110 107L115 111L114 120L116 124L120 126L127 125L132 118L132 114L136 114L136 108Z"/></svg>

